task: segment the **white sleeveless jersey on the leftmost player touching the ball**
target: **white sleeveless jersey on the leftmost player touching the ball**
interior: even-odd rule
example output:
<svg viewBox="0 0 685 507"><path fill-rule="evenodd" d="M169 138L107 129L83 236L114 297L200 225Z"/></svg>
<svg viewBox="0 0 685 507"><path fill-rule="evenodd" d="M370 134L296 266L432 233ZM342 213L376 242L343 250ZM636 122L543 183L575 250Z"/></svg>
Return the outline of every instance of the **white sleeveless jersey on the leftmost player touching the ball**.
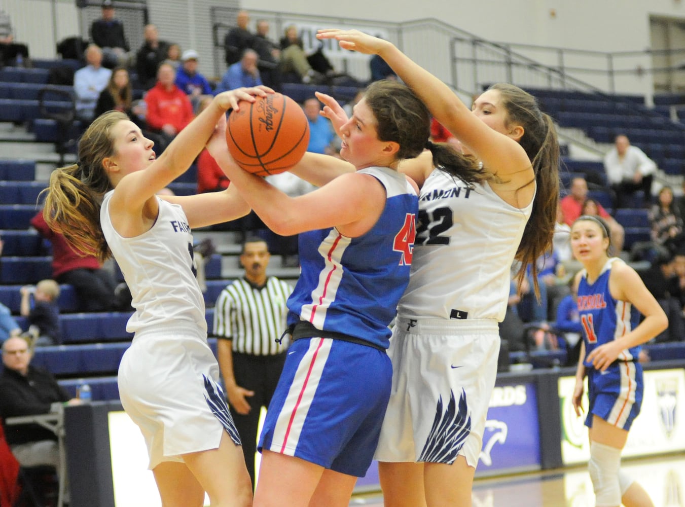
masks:
<svg viewBox="0 0 685 507"><path fill-rule="evenodd" d="M110 220L112 192L102 202L100 224L133 296L136 312L126 330L190 321L207 332L205 301L195 277L192 234L183 208L158 198L160 211L150 230L124 238Z"/></svg>

